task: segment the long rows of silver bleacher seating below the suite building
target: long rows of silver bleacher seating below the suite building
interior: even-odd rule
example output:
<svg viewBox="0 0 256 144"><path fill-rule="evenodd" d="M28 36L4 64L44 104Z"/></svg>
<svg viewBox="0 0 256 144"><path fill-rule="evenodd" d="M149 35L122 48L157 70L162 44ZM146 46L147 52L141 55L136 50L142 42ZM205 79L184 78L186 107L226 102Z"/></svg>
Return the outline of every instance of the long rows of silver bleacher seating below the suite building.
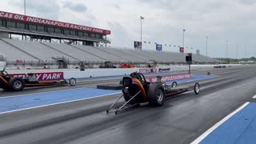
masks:
<svg viewBox="0 0 256 144"><path fill-rule="evenodd" d="M75 62L128 62L128 63L185 63L186 54L170 51L133 50L109 47L68 45L51 42L18 41L0 39L0 50L6 55L7 61L17 59L27 61L66 58ZM193 61L198 63L216 63L214 58L193 54Z"/></svg>

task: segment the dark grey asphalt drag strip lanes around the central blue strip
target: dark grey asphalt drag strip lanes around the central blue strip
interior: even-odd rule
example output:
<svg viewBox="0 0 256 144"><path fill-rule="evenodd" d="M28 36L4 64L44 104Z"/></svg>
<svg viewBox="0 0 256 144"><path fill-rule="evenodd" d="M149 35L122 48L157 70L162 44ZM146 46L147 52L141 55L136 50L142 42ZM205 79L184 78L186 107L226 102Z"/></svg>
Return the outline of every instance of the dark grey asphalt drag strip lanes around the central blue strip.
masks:
<svg viewBox="0 0 256 144"><path fill-rule="evenodd" d="M209 70L195 71L206 74ZM0 114L0 143L190 143L245 102L256 102L256 66L211 70L218 77L200 80L193 92L169 98L164 106L143 105L106 114L118 98L110 95L32 110ZM119 79L110 80L118 82ZM106 81L107 82L107 81ZM182 83L190 86L194 82ZM82 83L78 87L94 87ZM0 92L1 96L65 90L70 86Z"/></svg>

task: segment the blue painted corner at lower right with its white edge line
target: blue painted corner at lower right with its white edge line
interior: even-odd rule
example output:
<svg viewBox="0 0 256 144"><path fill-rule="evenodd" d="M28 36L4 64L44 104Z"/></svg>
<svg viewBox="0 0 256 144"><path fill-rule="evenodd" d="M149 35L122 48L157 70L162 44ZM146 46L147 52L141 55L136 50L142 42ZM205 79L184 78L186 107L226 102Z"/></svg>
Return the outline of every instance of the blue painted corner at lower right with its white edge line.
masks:
<svg viewBox="0 0 256 144"><path fill-rule="evenodd" d="M216 123L191 144L233 144L256 142L256 103L246 102Z"/></svg>

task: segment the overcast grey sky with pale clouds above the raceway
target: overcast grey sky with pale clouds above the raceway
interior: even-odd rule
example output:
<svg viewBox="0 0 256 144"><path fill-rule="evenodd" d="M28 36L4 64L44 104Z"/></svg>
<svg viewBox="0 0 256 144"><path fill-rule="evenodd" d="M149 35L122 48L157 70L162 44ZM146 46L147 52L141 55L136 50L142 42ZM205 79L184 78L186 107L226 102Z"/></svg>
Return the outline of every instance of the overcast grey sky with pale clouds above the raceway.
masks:
<svg viewBox="0 0 256 144"><path fill-rule="evenodd" d="M24 14L23 0L2 1L0 10ZM26 0L26 14L111 30L110 46L178 51L185 29L185 52L200 50L214 58L256 57L256 0ZM167 46L164 46L167 44ZM169 46L171 45L171 46ZM176 47L174 47L174 45ZM191 50L193 47L193 50ZM247 47L245 49L245 47Z"/></svg>

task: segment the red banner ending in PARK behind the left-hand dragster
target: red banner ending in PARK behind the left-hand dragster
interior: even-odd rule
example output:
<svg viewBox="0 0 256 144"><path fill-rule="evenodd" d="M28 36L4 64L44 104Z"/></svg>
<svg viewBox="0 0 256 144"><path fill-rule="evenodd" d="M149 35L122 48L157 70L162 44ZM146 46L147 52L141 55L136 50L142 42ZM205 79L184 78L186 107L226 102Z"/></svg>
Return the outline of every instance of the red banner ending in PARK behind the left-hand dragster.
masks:
<svg viewBox="0 0 256 144"><path fill-rule="evenodd" d="M38 81L59 81L64 79L63 72L50 72L50 73L33 73ZM26 78L27 74L9 74L11 78L22 77Z"/></svg>

